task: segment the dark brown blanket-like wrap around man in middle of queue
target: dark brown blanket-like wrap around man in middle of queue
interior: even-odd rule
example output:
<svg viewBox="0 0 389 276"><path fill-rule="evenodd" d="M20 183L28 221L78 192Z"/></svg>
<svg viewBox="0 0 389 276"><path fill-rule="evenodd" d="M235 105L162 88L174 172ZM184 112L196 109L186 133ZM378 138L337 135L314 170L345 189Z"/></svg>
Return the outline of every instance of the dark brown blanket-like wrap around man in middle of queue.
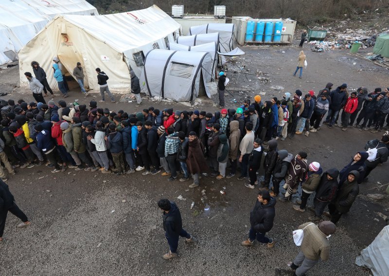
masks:
<svg viewBox="0 0 389 276"><path fill-rule="evenodd" d="M186 164L188 165L188 169L192 174L202 173L208 170L207 161L205 160L203 153L204 146L200 142L199 138L189 142Z"/></svg>

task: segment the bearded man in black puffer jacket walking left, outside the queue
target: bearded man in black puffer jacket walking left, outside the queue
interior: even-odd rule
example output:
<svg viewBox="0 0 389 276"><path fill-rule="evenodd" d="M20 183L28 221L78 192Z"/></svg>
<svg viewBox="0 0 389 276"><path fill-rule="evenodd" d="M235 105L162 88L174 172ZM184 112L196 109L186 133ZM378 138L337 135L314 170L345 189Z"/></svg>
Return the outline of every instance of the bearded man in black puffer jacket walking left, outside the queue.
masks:
<svg viewBox="0 0 389 276"><path fill-rule="evenodd" d="M267 238L266 232L269 232L273 227L274 217L276 210L276 199L270 197L267 190L260 190L258 193L255 206L250 212L250 232L248 233L248 239L242 242L244 246L250 246L254 244L254 240L258 242L267 243L267 248L272 248L276 241L274 239Z"/></svg>

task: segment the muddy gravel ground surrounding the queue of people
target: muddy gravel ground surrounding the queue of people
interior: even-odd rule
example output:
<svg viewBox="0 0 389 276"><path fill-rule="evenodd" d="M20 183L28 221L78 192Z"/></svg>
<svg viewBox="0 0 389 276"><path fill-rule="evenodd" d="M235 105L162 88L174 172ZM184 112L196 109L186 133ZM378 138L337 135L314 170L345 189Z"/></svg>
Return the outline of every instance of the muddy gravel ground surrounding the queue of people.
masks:
<svg viewBox="0 0 389 276"><path fill-rule="evenodd" d="M348 55L348 51L314 53L304 44L308 67L299 79L292 73L300 48L242 49L247 53L244 59L234 61L239 67L245 65L243 71L228 65L231 82L227 89L232 96L226 95L227 107L237 107L245 97L252 99L259 92L263 92L264 100L282 98L284 92L296 89L318 92L327 82L335 86L347 83L351 88L366 86L370 90L388 86L386 69ZM271 82L260 82L253 75L257 69L269 73ZM33 100L25 89L15 86L18 86L18 67L1 70L0 92L10 93L2 99ZM276 90L271 86L283 88ZM67 99L69 103L75 99L82 103L99 99L96 93L84 99L74 87ZM145 107L216 110L212 101L206 99L194 108L144 101ZM111 110L141 110L135 108L134 102L104 106ZM296 136L294 140L279 141L279 149L293 154L305 150L309 162L318 161L324 169L341 169L355 152L363 150L367 140L381 135L354 128L341 131L323 127L308 138ZM71 169L53 174L44 166L16 171L7 183L33 224L19 230L18 219L8 216L5 242L0 244L0 275L293 275L288 273L287 263L299 249L293 243L292 231L311 215L308 210L297 213L291 204L278 202L274 227L267 234L278 241L276 246L266 249L263 244L256 244L244 248L240 242L248 237L249 211L258 190L245 188L236 177L223 180L203 177L199 187L189 189L190 181L168 182L160 174L115 176ZM384 219L389 215L387 195L380 202L371 202L366 196L384 193L387 186L382 185L388 183L388 164L377 167L369 179L369 183L361 184L354 206L340 219L336 234L330 239L331 259L320 261L308 275L370 275L354 261L385 226ZM222 195L220 190L224 187L226 194ZM179 195L185 200L177 199ZM162 259L168 246L157 207L161 197L177 202L184 227L199 240L195 245L180 240L180 258L170 261ZM190 209L192 202L195 207ZM208 206L210 209L205 211Z"/></svg>

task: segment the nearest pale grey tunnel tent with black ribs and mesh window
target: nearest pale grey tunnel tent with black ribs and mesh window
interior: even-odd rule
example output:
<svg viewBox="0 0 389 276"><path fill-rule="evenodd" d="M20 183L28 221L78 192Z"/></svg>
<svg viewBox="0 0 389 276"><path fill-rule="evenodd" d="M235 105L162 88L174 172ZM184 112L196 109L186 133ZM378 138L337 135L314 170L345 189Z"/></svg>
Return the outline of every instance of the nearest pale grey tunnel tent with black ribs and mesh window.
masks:
<svg viewBox="0 0 389 276"><path fill-rule="evenodd" d="M203 93L211 97L207 86L211 71L209 52L152 50L144 60L141 90L177 102L193 101Z"/></svg>

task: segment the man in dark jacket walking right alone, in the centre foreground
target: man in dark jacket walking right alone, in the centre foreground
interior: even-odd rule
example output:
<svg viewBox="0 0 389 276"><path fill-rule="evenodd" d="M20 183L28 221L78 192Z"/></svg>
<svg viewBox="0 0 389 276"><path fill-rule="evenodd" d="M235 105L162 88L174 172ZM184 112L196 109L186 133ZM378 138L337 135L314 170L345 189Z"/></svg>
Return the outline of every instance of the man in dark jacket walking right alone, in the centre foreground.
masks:
<svg viewBox="0 0 389 276"><path fill-rule="evenodd" d="M176 203L162 198L158 201L158 207L163 211L163 230L170 248L170 251L163 255L163 259L172 259L177 257L180 236L186 238L186 242L195 242L195 238L182 228L181 213Z"/></svg>

